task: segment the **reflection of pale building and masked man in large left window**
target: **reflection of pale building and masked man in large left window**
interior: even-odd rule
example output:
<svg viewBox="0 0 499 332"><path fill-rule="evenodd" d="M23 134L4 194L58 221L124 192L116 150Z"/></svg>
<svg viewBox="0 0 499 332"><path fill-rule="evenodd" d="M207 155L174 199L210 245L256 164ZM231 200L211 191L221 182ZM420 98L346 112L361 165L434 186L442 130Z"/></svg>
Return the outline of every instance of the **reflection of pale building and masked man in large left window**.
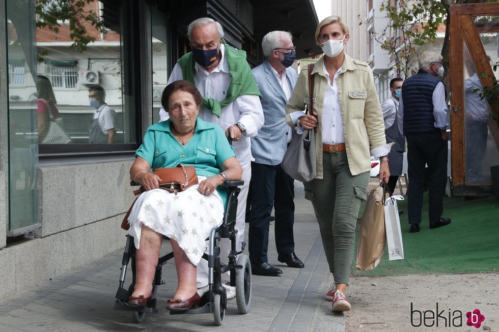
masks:
<svg viewBox="0 0 499 332"><path fill-rule="evenodd" d="M63 130L70 136L70 144L135 141L135 116L124 103L129 99L123 98L122 19L120 11L109 6L113 5L93 1L82 8L85 15L94 13L98 18L96 23L82 21L87 29L84 37L90 40L83 47L73 44L68 21L59 22L56 32L50 25L40 26L43 16L37 16L37 72L50 81L57 100L54 109ZM107 24L109 17L113 22ZM99 98L90 97L93 88L94 92L102 91ZM38 113L43 111L39 109ZM39 134L43 135L41 130L43 127L39 126Z"/></svg>

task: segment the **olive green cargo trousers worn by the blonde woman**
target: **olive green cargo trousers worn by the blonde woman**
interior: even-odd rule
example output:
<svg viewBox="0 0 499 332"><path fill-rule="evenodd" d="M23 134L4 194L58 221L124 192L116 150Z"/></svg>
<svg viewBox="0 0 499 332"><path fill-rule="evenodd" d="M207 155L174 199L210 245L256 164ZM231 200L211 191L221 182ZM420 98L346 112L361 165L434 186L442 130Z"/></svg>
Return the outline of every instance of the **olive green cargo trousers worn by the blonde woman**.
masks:
<svg viewBox="0 0 499 332"><path fill-rule="evenodd" d="M358 210L367 198L369 172L352 176L346 152L323 153L323 178L304 183L312 201L322 245L335 283L348 284Z"/></svg>

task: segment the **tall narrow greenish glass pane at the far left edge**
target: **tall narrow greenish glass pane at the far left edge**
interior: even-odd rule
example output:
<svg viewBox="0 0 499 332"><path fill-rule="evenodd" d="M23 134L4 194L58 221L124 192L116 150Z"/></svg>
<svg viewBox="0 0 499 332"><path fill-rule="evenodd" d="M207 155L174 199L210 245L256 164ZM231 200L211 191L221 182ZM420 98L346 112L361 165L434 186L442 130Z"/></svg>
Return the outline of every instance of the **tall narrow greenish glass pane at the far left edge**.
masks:
<svg viewBox="0 0 499 332"><path fill-rule="evenodd" d="M26 1L7 1L7 63L9 73L8 144L8 236L39 227L37 217L37 125L36 125L36 52L34 28L26 17L32 9ZM4 24L6 22L3 22Z"/></svg>

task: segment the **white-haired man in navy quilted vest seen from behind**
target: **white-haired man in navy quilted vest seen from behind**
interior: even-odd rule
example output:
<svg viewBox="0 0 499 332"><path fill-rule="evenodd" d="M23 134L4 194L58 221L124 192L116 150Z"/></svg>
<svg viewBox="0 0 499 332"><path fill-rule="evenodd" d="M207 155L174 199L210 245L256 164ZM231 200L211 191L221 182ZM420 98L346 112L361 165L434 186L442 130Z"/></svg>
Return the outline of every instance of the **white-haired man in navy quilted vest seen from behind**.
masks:
<svg viewBox="0 0 499 332"><path fill-rule="evenodd" d="M420 230L425 165L429 171L430 228L451 223L442 218L443 194L447 183L447 103L443 81L442 56L425 51L419 58L419 71L402 85L400 111L407 139L408 210L410 232Z"/></svg>

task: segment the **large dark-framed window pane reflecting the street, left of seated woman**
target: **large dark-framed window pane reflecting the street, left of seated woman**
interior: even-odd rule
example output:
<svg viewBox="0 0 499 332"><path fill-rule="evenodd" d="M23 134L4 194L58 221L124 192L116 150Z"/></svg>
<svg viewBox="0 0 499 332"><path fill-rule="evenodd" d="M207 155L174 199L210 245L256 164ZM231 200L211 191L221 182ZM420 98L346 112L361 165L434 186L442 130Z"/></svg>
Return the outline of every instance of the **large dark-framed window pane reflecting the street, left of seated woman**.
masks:
<svg viewBox="0 0 499 332"><path fill-rule="evenodd" d="M124 24L127 6L116 1L70 2L79 13L76 26L85 26L75 31L61 9L67 1L51 3L50 8L37 8L40 154L135 149L138 109L124 79L133 61L123 42L127 25L133 25ZM59 20L45 24L44 15ZM56 131L51 130L54 126Z"/></svg>

